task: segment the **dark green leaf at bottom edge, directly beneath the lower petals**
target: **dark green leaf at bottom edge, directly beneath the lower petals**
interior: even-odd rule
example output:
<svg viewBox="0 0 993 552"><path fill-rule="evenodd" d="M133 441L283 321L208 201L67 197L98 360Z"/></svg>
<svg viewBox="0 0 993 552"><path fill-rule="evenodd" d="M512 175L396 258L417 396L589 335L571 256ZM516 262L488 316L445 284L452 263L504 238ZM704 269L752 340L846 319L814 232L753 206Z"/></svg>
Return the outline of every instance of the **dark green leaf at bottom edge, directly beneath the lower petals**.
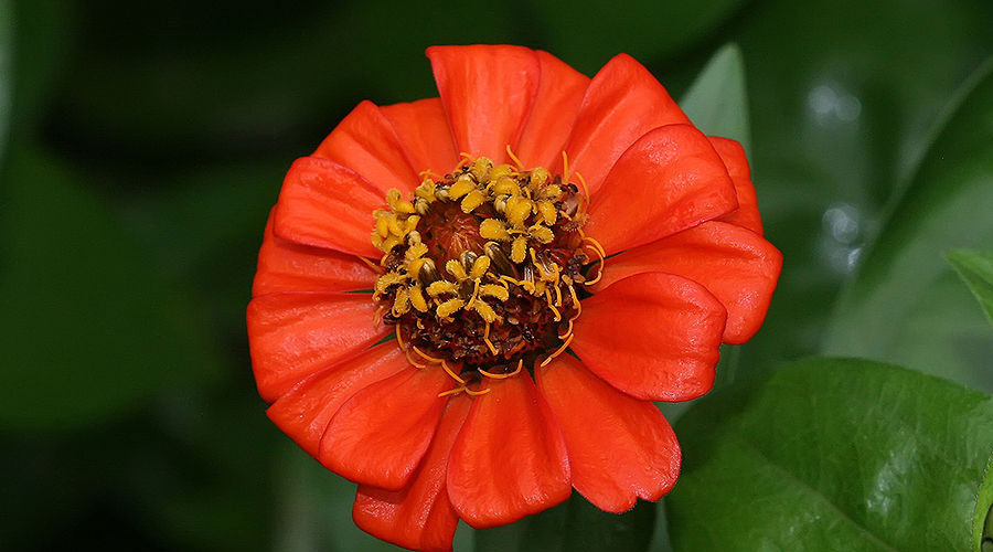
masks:
<svg viewBox="0 0 993 552"><path fill-rule="evenodd" d="M476 531L476 552L643 551L652 539L655 505L628 512L600 511L578 492L569 500L511 526Z"/></svg>

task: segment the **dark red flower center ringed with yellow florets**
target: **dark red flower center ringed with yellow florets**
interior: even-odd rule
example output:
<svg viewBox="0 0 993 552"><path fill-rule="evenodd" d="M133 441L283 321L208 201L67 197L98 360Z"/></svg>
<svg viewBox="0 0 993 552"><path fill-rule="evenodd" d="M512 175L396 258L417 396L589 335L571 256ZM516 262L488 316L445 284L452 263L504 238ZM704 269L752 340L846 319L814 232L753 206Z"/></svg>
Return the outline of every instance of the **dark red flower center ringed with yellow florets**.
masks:
<svg viewBox="0 0 993 552"><path fill-rule="evenodd" d="M576 184L467 157L425 178L412 199L391 190L386 201L374 213L386 272L373 298L412 362L440 364L466 390L477 374L533 370L565 351L583 286L599 279L604 261L583 233L587 201Z"/></svg>

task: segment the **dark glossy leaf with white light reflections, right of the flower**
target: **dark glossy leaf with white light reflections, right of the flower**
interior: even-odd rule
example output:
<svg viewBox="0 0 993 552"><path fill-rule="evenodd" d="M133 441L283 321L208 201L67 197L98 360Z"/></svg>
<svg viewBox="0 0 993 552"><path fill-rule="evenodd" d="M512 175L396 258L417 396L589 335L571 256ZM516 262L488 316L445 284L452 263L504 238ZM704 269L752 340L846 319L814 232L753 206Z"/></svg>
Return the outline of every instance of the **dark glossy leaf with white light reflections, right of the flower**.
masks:
<svg viewBox="0 0 993 552"><path fill-rule="evenodd" d="M764 0L723 28L715 44L739 44L748 67L754 181L766 236L784 258L766 323L743 351L743 376L820 350L883 205L991 52L990 6ZM951 285L961 291L954 276Z"/></svg>

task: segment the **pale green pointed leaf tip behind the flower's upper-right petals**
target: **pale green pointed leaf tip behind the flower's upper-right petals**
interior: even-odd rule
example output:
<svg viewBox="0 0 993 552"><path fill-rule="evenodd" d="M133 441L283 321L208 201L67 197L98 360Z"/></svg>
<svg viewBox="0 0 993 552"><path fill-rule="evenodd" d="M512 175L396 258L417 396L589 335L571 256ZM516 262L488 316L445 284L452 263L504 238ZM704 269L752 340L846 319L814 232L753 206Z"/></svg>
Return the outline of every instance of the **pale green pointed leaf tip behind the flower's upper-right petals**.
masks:
<svg viewBox="0 0 993 552"><path fill-rule="evenodd" d="M723 136L751 150L745 61L737 44L726 44L703 68L680 100L690 120L709 136Z"/></svg>

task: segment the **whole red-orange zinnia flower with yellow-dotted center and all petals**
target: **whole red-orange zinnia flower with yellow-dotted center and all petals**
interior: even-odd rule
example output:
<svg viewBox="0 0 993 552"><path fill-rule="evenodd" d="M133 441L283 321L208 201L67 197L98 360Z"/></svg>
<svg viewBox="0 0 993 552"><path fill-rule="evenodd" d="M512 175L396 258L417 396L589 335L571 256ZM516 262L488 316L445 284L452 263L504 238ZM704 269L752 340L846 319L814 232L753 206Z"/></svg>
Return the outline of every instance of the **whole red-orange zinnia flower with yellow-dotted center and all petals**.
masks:
<svg viewBox="0 0 993 552"><path fill-rule="evenodd" d="M651 401L706 393L779 276L743 148L624 54L427 55L440 98L363 102L286 176L248 306L269 417L410 549L573 488L658 500L680 447Z"/></svg>

